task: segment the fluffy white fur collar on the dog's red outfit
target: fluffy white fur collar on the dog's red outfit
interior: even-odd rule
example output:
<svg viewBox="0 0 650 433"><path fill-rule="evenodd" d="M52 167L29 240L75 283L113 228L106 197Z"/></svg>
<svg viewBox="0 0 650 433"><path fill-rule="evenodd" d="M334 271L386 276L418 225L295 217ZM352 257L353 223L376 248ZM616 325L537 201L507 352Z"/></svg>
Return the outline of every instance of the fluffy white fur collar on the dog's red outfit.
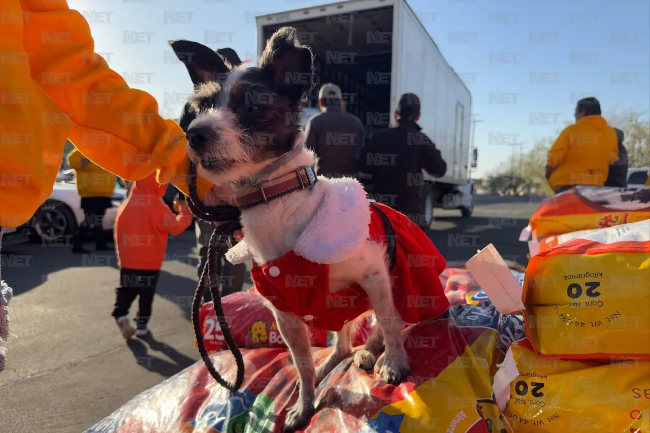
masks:
<svg viewBox="0 0 650 433"><path fill-rule="evenodd" d="M369 236L370 206L363 185L351 177L318 177L326 184L322 203L307 224L294 252L314 263L341 263L352 257ZM230 248L226 259L243 263L252 259L248 244L242 240Z"/></svg>

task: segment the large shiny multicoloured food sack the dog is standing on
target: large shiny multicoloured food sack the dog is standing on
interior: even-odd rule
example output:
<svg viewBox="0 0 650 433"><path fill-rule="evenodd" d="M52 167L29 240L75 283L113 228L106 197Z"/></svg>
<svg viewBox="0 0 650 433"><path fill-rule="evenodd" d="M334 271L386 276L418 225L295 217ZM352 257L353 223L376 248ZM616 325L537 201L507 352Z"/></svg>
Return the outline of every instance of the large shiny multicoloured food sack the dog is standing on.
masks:
<svg viewBox="0 0 650 433"><path fill-rule="evenodd" d="M463 311L482 309L484 320ZM491 380L504 352L490 306L459 306L404 331L411 364L397 385L358 369L352 356L316 389L307 433L510 433L493 399ZM458 318L458 322L456 322ZM475 324L473 324L475 323ZM314 348L316 363L333 348ZM284 348L242 350L242 388L229 393L202 362L138 395L86 433L276 433L296 400L297 373ZM235 379L229 351L211 356L226 380Z"/></svg>

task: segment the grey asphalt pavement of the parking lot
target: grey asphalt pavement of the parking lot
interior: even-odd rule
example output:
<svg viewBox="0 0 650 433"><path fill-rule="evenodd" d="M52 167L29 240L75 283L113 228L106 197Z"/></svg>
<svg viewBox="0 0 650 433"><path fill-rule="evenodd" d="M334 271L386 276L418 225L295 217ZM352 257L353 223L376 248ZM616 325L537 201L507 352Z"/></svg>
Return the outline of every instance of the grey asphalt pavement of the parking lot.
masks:
<svg viewBox="0 0 650 433"><path fill-rule="evenodd" d="M436 210L431 236L448 262L465 261L493 243L505 259L525 265L519 232L538 203L478 196L470 218ZM194 231L170 237L150 322L153 338L128 342L110 317L119 279L114 254L74 255L64 245L3 248L15 336L0 373L0 432L82 432L196 362L194 246Z"/></svg>

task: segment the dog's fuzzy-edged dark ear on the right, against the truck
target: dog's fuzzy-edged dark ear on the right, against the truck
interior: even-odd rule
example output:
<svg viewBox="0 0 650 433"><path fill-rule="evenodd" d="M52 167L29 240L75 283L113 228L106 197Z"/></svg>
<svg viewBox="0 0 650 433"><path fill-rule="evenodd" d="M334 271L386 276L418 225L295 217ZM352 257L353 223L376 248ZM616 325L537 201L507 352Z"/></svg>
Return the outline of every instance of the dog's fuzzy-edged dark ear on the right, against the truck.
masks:
<svg viewBox="0 0 650 433"><path fill-rule="evenodd" d="M313 86L314 61L311 48L303 45L293 27L282 27L266 42L259 60L261 70L276 86L278 94L300 103Z"/></svg>

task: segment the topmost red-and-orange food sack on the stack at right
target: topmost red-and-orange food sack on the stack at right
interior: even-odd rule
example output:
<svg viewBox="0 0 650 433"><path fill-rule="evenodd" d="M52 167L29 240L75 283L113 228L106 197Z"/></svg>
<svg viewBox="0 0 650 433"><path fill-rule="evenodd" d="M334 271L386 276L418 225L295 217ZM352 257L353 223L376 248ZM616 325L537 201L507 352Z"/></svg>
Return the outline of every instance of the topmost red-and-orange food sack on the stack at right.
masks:
<svg viewBox="0 0 650 433"><path fill-rule="evenodd" d="M529 230L534 238L541 238L648 218L650 189L580 186L543 200L530 218Z"/></svg>

